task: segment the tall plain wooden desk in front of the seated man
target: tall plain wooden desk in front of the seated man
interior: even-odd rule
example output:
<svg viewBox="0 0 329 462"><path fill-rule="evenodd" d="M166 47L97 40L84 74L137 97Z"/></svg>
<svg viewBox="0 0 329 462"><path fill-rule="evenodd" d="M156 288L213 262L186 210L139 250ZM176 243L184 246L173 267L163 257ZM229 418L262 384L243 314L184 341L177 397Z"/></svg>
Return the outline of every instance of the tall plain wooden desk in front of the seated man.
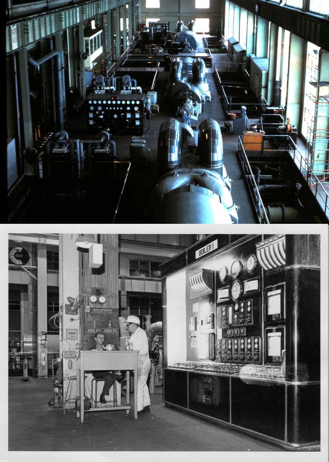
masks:
<svg viewBox="0 0 329 462"><path fill-rule="evenodd" d="M126 371L127 372L127 406L109 406L91 408L85 411L85 373L90 371ZM130 402L130 371L134 371L134 418L137 419L137 352L136 351L80 351L77 360L76 394L80 396L80 410L76 416L81 424L85 421L85 412L122 411L127 414L131 409Z"/></svg>

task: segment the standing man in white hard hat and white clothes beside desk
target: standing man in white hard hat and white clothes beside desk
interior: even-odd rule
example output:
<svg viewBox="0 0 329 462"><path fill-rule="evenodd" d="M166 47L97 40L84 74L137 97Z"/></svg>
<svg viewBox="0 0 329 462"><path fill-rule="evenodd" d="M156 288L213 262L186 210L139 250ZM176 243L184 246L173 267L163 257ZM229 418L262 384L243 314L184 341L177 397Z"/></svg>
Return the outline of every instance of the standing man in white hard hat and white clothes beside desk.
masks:
<svg viewBox="0 0 329 462"><path fill-rule="evenodd" d="M140 328L140 321L137 316L128 316L127 328L131 334L128 340L130 350L138 352L137 355L137 414L150 412L150 394L147 386L147 379L151 370L149 357L149 342L146 332Z"/></svg>

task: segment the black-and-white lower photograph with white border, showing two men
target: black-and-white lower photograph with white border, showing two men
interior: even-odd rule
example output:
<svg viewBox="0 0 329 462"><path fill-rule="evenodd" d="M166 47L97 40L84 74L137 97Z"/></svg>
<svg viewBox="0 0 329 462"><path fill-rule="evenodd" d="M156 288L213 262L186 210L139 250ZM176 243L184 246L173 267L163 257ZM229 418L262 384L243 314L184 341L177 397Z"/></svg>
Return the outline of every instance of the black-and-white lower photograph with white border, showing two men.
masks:
<svg viewBox="0 0 329 462"><path fill-rule="evenodd" d="M327 227L298 228L8 233L5 460L324 460Z"/></svg>

